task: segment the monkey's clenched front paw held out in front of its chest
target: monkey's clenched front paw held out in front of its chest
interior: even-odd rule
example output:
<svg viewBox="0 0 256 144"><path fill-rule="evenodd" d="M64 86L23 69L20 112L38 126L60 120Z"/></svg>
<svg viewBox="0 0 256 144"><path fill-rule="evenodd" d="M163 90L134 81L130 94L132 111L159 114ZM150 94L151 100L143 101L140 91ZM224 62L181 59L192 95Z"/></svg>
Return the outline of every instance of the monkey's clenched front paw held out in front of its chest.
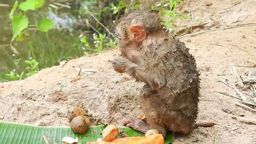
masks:
<svg viewBox="0 0 256 144"><path fill-rule="evenodd" d="M129 60L124 58L115 58L112 61L112 66L118 73L125 73L129 69Z"/></svg>

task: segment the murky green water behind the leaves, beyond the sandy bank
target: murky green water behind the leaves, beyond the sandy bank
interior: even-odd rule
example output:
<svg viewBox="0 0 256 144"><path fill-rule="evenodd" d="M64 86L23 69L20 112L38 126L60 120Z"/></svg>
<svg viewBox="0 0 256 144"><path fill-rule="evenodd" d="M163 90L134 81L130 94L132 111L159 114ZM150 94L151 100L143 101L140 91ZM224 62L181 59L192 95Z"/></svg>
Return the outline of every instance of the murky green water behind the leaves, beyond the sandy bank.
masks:
<svg viewBox="0 0 256 144"><path fill-rule="evenodd" d="M54 9L45 4L35 12L27 14L29 25L36 25L40 19L49 18L55 28L49 33L42 33L29 27L29 36L22 42L11 42L12 29L9 13L15 0L0 0L0 82L8 79L5 74L10 71L21 73L26 71L25 60L35 59L39 62L38 68L42 69L58 65L59 61L81 57L84 50L78 36L81 35L81 25L77 26L77 15L72 9L62 7ZM89 34L92 32L89 31Z"/></svg>

